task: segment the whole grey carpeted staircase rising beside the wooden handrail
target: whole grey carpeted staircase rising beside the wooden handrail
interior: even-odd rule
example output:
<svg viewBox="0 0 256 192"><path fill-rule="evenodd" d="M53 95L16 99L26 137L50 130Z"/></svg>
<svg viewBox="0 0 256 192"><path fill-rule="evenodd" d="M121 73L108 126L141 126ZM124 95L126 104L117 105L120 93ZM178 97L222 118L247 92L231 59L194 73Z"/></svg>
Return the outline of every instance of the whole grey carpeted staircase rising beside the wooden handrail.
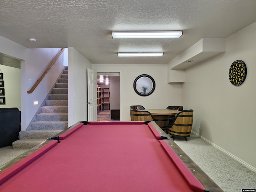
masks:
<svg viewBox="0 0 256 192"><path fill-rule="evenodd" d="M31 149L68 128L68 67L65 67L14 149Z"/></svg>

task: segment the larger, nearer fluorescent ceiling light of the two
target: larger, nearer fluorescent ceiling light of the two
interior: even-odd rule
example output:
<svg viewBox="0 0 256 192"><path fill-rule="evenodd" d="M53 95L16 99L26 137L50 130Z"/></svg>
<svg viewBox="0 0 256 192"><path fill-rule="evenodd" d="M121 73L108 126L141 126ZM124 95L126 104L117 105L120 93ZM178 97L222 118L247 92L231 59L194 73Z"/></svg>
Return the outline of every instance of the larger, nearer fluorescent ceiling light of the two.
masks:
<svg viewBox="0 0 256 192"><path fill-rule="evenodd" d="M112 38L180 38L182 31L113 31Z"/></svg>

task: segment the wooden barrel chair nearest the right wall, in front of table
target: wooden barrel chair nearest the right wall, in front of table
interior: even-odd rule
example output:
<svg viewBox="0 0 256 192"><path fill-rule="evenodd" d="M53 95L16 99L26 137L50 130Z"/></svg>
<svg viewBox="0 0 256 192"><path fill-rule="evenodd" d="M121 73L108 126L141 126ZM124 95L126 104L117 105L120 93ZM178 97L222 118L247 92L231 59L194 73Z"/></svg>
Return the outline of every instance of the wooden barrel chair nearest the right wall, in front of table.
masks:
<svg viewBox="0 0 256 192"><path fill-rule="evenodd" d="M193 124L193 112L194 110L184 110L179 112L174 121L170 124L170 128L168 128L168 133L172 136L174 140L175 137L185 138L190 136Z"/></svg>

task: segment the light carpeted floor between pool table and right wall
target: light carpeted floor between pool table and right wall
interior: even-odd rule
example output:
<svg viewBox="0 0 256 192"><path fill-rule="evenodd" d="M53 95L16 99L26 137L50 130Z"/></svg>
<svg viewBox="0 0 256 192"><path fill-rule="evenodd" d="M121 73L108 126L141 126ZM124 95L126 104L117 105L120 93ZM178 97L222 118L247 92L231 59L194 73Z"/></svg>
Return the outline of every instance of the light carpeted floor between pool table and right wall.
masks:
<svg viewBox="0 0 256 192"><path fill-rule="evenodd" d="M188 142L182 138L175 138L174 142L224 192L256 189L256 173L196 136L196 134L191 134L188 137Z"/></svg>

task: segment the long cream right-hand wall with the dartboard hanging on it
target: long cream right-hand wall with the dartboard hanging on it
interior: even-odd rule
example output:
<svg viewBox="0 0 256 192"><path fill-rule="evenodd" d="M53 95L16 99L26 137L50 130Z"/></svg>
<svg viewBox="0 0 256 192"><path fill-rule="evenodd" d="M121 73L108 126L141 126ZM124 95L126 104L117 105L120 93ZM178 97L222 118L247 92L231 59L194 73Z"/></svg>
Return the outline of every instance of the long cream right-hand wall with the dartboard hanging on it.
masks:
<svg viewBox="0 0 256 192"><path fill-rule="evenodd" d="M229 36L226 52L186 69L182 86L182 104L194 109L193 131L254 171L255 31L256 22ZM243 60L248 70L240 86L228 78L235 60Z"/></svg>

